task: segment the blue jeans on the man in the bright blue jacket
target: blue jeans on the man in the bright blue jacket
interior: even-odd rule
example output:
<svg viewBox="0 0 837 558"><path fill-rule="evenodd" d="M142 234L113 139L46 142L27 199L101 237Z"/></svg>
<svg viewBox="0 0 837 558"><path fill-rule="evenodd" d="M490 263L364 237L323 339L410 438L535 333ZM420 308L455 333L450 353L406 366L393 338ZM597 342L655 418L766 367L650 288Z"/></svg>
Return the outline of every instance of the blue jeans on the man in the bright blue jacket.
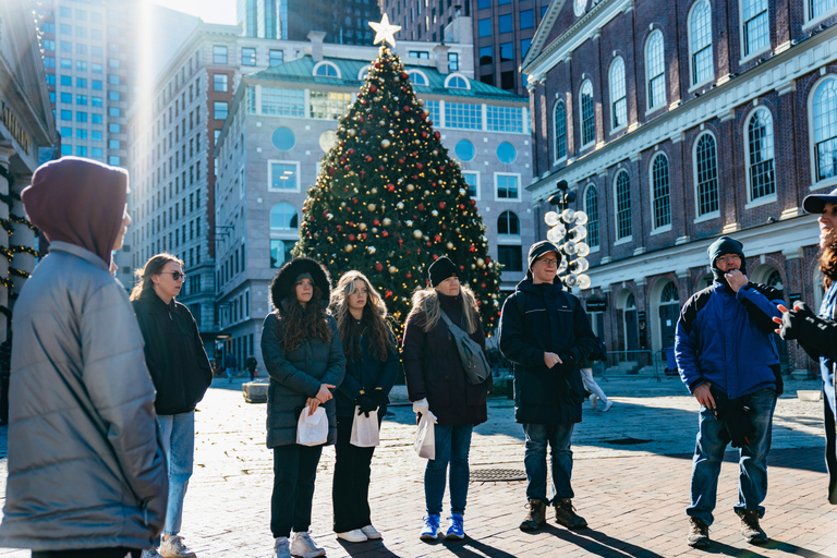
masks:
<svg viewBox="0 0 837 558"><path fill-rule="evenodd" d="M776 391L760 389L744 396L752 409L750 420L755 426L755 439L739 449L738 504L736 511L757 510L764 517L761 505L767 496L767 453L771 451L773 411L776 408ZM724 451L729 444L725 421L716 418L714 411L701 407L698 444L692 459L692 504L686 513L700 518L711 525L718 490L718 475Z"/></svg>

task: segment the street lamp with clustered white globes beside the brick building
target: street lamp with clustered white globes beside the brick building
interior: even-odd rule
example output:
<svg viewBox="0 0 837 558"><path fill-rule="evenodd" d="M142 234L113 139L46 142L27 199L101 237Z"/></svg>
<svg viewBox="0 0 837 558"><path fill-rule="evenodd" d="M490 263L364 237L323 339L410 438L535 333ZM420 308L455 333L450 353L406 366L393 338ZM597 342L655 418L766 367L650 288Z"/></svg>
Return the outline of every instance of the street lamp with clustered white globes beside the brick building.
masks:
<svg viewBox="0 0 837 558"><path fill-rule="evenodd" d="M546 240L557 245L563 257L558 266L558 278L567 287L590 289L592 281L584 271L590 269L590 245L584 242L587 238L587 214L570 209L568 206L575 201L575 192L567 192L567 181L558 181L558 192L549 197L549 204L557 206L558 211L547 211L544 221L551 227L546 233Z"/></svg>

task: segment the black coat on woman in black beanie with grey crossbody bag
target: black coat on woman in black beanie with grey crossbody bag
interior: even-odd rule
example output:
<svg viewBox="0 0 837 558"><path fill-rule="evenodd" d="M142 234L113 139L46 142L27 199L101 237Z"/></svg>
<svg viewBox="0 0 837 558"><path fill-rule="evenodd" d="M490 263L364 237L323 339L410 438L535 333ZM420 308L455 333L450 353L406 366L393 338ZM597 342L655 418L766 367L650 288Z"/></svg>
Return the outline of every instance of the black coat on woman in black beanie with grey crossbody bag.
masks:
<svg viewBox="0 0 837 558"><path fill-rule="evenodd" d="M462 295L436 295L450 320L463 324ZM492 376L483 384L470 384L448 326L439 319L433 329L425 332L424 320L424 312L420 311L410 316L404 326L402 354L410 401L427 398L430 412L441 425L476 426L484 423L488 418L486 397L492 388ZM462 328L465 329L464 325ZM482 327L477 327L470 337L485 351Z"/></svg>

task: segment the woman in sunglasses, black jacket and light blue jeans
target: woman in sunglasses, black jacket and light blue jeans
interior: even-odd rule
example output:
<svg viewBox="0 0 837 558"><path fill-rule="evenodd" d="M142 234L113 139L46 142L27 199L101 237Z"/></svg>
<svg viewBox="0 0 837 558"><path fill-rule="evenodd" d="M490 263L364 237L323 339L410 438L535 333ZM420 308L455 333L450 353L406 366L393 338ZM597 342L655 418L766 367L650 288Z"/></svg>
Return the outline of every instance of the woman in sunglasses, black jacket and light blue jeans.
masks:
<svg viewBox="0 0 837 558"><path fill-rule="evenodd" d="M174 298L186 279L183 262L157 254L137 269L131 301L145 339L145 362L157 388L154 403L168 456L169 506L162 544L144 557L194 558L179 536L195 452L195 405L213 383L195 318Z"/></svg>

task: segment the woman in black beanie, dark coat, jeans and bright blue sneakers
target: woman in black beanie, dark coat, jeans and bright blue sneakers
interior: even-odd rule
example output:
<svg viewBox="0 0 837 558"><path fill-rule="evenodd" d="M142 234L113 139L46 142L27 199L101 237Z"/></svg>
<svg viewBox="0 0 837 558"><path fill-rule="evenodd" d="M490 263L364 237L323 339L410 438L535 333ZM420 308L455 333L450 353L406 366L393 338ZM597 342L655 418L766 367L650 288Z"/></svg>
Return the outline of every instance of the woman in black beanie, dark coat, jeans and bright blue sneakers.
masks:
<svg viewBox="0 0 837 558"><path fill-rule="evenodd" d="M459 283L457 266L440 257L428 268L430 287L413 295L412 310L404 326L403 362L407 390L413 411L436 415L436 458L427 461L424 495L427 515L420 537L440 536L439 514L445 496L446 473L450 463L450 525L447 538L464 538L462 514L468 499L470 472L468 453L471 433L487 420L486 397L492 377L483 384L468 381L457 343L441 318L466 331L485 351L474 293Z"/></svg>

